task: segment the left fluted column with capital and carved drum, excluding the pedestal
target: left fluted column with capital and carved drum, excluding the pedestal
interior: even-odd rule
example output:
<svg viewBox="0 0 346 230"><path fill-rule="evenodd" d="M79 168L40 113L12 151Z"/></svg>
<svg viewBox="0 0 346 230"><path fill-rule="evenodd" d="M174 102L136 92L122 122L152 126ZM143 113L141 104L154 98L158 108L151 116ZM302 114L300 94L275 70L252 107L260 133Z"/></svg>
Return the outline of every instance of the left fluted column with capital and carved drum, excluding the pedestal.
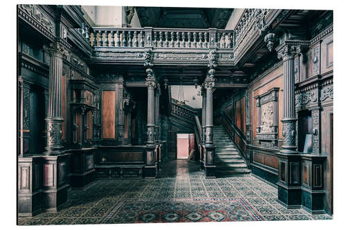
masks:
<svg viewBox="0 0 346 230"><path fill-rule="evenodd" d="M59 154L62 150L62 55L66 50L58 42L44 47L49 51L48 115L46 117L46 154Z"/></svg>

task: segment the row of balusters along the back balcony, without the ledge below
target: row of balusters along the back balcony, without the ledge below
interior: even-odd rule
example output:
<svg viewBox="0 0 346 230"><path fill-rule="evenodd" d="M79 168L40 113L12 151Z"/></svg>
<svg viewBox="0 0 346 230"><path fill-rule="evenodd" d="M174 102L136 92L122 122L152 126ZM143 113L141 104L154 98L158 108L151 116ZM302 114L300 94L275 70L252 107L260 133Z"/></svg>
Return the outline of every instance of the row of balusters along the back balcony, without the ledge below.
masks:
<svg viewBox="0 0 346 230"><path fill-rule="evenodd" d="M144 28L82 28L80 34L93 47L144 47ZM213 30L215 32L215 30ZM208 29L152 28L149 44L153 48L210 48ZM147 38L148 39L148 38ZM217 49L233 48L233 30L216 30Z"/></svg>

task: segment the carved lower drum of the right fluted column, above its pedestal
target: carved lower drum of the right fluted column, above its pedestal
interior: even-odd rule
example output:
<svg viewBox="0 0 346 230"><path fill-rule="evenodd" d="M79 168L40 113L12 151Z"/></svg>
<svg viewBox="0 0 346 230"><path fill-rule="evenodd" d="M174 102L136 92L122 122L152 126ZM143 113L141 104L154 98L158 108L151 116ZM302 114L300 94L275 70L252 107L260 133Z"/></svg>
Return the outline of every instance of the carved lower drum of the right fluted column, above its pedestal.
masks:
<svg viewBox="0 0 346 230"><path fill-rule="evenodd" d="M282 118L282 136L283 136L283 143L282 143L282 150L280 153L291 153L295 154L298 153L297 146L295 144L295 123L297 122L297 118L290 117L290 118Z"/></svg>

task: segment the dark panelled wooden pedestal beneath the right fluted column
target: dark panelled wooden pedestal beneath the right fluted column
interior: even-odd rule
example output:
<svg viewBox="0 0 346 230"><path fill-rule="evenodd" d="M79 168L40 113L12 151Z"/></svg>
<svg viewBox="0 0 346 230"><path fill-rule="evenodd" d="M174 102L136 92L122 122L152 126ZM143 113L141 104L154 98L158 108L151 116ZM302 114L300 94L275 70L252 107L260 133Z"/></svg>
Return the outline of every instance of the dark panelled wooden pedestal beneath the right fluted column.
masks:
<svg viewBox="0 0 346 230"><path fill-rule="evenodd" d="M325 156L280 154L277 201L287 209L325 213L323 185Z"/></svg>

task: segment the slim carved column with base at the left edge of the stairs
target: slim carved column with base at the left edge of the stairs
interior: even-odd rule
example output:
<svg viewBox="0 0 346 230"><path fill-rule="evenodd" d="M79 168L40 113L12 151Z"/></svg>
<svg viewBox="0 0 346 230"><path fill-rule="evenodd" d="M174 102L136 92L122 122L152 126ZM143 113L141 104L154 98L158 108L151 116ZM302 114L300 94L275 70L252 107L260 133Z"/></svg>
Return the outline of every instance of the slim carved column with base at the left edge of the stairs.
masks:
<svg viewBox="0 0 346 230"><path fill-rule="evenodd" d="M204 155L204 172L206 178L215 178L215 145L213 142L213 111L212 111L212 92L215 86L215 68L217 67L217 54L215 50L211 50L208 55L208 76L204 81L204 88L206 88L206 153Z"/></svg>

